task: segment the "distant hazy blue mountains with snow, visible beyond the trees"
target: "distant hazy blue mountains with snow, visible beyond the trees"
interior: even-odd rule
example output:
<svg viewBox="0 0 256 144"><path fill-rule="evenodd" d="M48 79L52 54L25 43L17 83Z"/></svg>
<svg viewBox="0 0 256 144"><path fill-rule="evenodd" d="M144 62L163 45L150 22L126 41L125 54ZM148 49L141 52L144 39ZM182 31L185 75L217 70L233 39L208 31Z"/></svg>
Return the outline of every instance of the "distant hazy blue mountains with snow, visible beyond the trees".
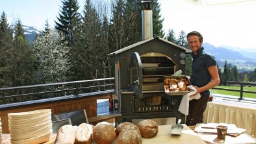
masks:
<svg viewBox="0 0 256 144"><path fill-rule="evenodd" d="M25 35L29 43L34 42L36 34L40 34L42 30L36 27L23 25ZM224 67L225 61L228 64L236 65L240 71L253 71L256 68L256 52L248 52L243 49L233 47L215 47L210 43L203 43L205 51L211 53L217 60L219 67Z"/></svg>

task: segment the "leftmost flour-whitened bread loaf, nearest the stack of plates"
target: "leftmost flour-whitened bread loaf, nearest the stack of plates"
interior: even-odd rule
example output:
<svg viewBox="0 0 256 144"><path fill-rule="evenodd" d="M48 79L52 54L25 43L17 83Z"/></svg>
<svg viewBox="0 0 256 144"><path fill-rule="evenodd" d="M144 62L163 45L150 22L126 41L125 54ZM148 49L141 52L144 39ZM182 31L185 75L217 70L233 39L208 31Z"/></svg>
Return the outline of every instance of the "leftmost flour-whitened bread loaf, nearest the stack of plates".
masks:
<svg viewBox="0 0 256 144"><path fill-rule="evenodd" d="M64 125L58 130L58 134L55 139L55 144L73 144L75 143L75 130L77 126Z"/></svg>

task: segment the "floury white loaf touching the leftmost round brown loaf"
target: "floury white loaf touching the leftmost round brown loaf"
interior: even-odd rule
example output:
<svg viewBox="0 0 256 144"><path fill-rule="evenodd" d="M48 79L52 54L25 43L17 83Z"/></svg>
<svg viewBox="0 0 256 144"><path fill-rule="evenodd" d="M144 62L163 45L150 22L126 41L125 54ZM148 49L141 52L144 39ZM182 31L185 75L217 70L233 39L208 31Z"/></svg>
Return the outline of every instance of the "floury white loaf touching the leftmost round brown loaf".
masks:
<svg viewBox="0 0 256 144"><path fill-rule="evenodd" d="M75 144L89 144L92 142L93 126L87 123L82 123L77 126L75 131Z"/></svg>

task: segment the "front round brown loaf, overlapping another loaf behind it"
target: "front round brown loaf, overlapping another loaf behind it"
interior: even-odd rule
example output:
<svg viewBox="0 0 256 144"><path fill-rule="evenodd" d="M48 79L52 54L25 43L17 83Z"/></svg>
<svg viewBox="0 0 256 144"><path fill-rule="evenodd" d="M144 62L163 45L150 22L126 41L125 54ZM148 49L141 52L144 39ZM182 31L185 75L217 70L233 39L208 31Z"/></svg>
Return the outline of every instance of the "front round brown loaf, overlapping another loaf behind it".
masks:
<svg viewBox="0 0 256 144"><path fill-rule="evenodd" d="M142 136L140 135L138 130L122 130L118 135L117 142L118 144L141 144Z"/></svg>

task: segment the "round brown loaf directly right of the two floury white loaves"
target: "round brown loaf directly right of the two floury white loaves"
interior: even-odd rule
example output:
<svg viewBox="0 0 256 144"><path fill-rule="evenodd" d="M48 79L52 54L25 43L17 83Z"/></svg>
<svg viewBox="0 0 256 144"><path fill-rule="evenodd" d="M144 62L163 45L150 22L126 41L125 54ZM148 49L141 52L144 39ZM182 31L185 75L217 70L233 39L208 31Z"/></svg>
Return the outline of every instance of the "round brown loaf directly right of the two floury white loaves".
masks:
<svg viewBox="0 0 256 144"><path fill-rule="evenodd" d="M116 139L116 132L114 126L103 121L94 126L92 136L97 143L110 144Z"/></svg>

